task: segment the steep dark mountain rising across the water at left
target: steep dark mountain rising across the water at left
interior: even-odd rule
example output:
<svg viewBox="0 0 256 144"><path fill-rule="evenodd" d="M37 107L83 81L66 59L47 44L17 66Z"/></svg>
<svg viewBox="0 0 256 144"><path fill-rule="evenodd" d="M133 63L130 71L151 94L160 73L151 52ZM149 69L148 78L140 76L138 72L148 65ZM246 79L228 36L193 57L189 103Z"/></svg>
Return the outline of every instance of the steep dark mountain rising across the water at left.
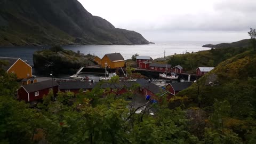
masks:
<svg viewBox="0 0 256 144"><path fill-rule="evenodd" d="M0 46L149 44L135 31L115 28L77 0L0 1Z"/></svg>

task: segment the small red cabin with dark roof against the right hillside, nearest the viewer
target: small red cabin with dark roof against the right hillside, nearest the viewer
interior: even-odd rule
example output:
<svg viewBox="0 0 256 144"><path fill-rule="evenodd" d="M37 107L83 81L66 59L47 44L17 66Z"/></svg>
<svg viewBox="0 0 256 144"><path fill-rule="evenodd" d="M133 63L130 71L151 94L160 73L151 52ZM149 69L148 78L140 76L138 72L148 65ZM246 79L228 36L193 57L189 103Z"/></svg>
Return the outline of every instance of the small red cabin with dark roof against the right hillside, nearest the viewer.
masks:
<svg viewBox="0 0 256 144"><path fill-rule="evenodd" d="M172 95L175 95L178 92L187 89L192 84L193 82L170 83L166 86L166 90L168 90Z"/></svg>

